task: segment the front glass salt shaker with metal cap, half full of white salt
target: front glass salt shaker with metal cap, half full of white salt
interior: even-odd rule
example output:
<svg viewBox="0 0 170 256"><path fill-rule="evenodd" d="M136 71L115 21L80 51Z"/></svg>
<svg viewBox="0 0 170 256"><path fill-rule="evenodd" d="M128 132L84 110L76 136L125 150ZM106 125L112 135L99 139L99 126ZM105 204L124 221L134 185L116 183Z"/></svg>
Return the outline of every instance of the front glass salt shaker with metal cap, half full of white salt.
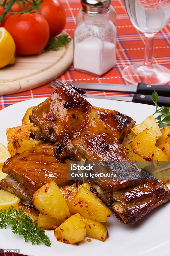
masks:
<svg viewBox="0 0 170 256"><path fill-rule="evenodd" d="M74 69L100 77L116 64L111 0L81 0L83 19L74 31Z"/></svg>

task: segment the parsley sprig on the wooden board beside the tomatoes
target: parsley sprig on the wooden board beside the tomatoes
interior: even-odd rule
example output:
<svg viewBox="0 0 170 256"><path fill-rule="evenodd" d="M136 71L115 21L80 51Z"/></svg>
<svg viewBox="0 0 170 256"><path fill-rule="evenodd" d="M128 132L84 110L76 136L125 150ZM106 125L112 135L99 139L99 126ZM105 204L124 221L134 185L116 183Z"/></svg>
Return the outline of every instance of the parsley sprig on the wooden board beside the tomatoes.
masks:
<svg viewBox="0 0 170 256"><path fill-rule="evenodd" d="M46 51L58 51L61 47L67 46L70 41L71 38L68 35L50 37L42 53Z"/></svg>

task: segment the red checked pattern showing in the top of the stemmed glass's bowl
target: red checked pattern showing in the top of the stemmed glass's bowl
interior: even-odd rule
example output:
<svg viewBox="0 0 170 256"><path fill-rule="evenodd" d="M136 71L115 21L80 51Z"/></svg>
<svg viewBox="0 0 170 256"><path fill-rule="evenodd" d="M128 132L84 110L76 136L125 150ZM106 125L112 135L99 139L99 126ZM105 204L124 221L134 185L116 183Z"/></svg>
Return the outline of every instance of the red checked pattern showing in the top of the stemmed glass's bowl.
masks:
<svg viewBox="0 0 170 256"><path fill-rule="evenodd" d="M138 0L138 1L147 10L160 9L170 4L170 0Z"/></svg>

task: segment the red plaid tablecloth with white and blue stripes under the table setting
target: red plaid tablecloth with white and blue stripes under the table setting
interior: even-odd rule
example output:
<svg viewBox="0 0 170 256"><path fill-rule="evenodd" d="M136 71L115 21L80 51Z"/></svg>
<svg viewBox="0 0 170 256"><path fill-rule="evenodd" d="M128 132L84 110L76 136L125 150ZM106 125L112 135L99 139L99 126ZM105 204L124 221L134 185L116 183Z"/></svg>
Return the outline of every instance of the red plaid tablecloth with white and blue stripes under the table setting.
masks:
<svg viewBox="0 0 170 256"><path fill-rule="evenodd" d="M140 0L146 2L146 0ZM155 0L153 0L155 1ZM150 2L153 2L150 1ZM148 2L148 1L147 1ZM166 1L165 1L166 2ZM67 24L65 30L73 37L73 32L76 27L76 15L81 8L79 0L62 0L67 14ZM121 76L121 71L126 66L137 63L143 60L145 36L140 33L130 22L123 1L112 0L112 6L117 12L117 62L116 67L107 72L104 76L97 78L88 74L77 72L73 66L64 73L59 79L63 82L96 82L96 83L117 83L125 84L126 82ZM164 65L170 69L170 25L168 24L154 39L154 59L153 63ZM169 83L170 84L170 83ZM14 103L29 100L39 97L48 97L54 91L53 88L48 88L46 85L26 92L7 95L0 97L0 109L3 109ZM88 93L101 96L122 95L132 96L127 93L114 93L103 91L89 91ZM10 242L9 242L10 247ZM16 245L17 248L17 245ZM22 248L21 248L22 251ZM16 253L0 253L0 256L16 256Z"/></svg>

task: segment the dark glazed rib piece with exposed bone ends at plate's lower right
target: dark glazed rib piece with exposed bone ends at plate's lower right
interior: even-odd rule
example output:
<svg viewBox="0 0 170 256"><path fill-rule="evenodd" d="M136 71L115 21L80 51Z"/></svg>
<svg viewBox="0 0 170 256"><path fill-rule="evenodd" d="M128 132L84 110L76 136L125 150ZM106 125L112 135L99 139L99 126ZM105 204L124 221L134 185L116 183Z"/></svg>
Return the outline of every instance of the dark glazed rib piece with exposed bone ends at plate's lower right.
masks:
<svg viewBox="0 0 170 256"><path fill-rule="evenodd" d="M107 205L122 224L134 224L154 208L169 202L170 191L159 180L144 181L121 190L109 192L94 182L90 190Z"/></svg>

